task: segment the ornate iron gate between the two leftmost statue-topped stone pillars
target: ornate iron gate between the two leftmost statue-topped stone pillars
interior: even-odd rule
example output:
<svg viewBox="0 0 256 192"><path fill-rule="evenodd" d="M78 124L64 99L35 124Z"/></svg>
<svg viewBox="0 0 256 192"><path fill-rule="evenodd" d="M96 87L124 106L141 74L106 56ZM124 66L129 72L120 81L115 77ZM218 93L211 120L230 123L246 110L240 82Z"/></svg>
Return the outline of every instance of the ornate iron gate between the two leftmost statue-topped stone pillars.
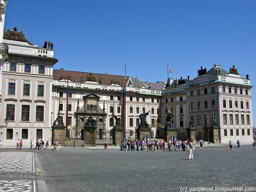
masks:
<svg viewBox="0 0 256 192"><path fill-rule="evenodd" d="M79 146L85 143L83 139L83 129L80 127L70 127L68 129L67 139L65 139L65 144L68 146Z"/></svg>

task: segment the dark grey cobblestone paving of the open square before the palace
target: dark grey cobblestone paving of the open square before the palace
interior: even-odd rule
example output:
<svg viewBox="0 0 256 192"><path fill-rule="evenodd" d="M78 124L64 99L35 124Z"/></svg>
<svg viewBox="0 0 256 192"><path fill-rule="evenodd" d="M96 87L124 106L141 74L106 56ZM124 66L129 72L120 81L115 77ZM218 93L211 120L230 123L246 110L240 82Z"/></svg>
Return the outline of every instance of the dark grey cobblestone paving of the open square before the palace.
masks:
<svg viewBox="0 0 256 192"><path fill-rule="evenodd" d="M252 148L246 145L233 150L228 146L205 147L202 151L197 148L193 160L188 160L187 151L63 147L58 152L33 152L43 167L43 174L36 177L45 180L52 192L178 192L180 187L187 187L188 191L188 187L256 187L256 151Z"/></svg>

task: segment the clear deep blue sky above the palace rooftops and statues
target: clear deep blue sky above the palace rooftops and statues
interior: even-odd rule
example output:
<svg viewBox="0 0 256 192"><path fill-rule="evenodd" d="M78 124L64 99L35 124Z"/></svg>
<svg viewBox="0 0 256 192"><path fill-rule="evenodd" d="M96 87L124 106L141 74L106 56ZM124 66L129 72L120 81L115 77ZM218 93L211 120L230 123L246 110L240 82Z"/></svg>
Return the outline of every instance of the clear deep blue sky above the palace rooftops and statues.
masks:
<svg viewBox="0 0 256 192"><path fill-rule="evenodd" d="M166 81L196 69L235 65L255 83L255 0L8 0L5 27L54 44L55 69ZM252 89L253 119L256 88ZM255 125L255 123L254 123Z"/></svg>

